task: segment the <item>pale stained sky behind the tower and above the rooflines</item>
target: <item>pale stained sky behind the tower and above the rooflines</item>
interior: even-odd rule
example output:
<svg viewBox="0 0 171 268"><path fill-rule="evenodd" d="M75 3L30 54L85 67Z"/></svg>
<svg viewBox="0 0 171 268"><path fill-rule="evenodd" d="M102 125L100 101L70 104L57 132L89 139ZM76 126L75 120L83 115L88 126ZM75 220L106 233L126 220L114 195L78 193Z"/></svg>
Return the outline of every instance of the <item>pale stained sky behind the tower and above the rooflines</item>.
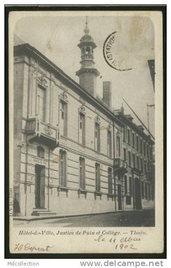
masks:
<svg viewBox="0 0 171 268"><path fill-rule="evenodd" d="M154 26L148 17L139 16L88 16L89 34L97 48L94 50L97 78L97 94L103 96L103 81L112 83L112 107L131 114L137 125L141 123L133 115L124 98L137 116L148 126L147 103L154 104L154 89L148 60L154 59ZM76 71L80 69L81 51L77 46L85 34L85 17L37 16L19 19L15 33L24 42L39 50L68 76L79 83ZM116 59L132 69L118 71L110 67L103 57L106 37L116 33ZM101 77L102 76L102 77ZM154 135L154 108L149 108L150 131Z"/></svg>

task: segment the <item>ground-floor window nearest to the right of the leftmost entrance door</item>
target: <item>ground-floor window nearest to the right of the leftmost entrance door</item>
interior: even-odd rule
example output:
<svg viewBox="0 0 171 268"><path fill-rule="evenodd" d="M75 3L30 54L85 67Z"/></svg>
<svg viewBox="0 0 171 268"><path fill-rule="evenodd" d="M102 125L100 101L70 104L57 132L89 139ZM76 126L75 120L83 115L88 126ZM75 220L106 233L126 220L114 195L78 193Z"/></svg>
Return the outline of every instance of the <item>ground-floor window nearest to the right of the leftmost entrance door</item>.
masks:
<svg viewBox="0 0 171 268"><path fill-rule="evenodd" d="M67 154L66 151L59 152L59 185L67 186Z"/></svg>

